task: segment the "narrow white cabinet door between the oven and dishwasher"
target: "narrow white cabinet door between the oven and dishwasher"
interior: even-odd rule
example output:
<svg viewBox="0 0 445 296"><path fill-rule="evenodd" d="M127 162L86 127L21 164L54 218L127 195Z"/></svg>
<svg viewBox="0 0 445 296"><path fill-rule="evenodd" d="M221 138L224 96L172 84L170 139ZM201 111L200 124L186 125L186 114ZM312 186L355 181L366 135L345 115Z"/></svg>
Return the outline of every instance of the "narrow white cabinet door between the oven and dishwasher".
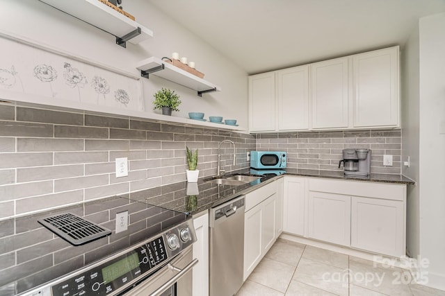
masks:
<svg viewBox="0 0 445 296"><path fill-rule="evenodd" d="M193 296L209 295L209 214L193 219L197 241L193 243Z"/></svg>

